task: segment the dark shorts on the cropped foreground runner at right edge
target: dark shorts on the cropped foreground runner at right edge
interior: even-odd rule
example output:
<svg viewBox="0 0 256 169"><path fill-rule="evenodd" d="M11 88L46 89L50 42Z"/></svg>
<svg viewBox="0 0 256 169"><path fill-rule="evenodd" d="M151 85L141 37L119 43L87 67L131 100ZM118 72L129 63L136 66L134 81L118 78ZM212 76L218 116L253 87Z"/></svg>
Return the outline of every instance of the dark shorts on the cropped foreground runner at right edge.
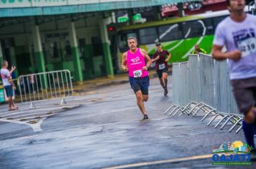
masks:
<svg viewBox="0 0 256 169"><path fill-rule="evenodd" d="M256 103L256 77L233 79L230 84L239 111L246 114Z"/></svg>

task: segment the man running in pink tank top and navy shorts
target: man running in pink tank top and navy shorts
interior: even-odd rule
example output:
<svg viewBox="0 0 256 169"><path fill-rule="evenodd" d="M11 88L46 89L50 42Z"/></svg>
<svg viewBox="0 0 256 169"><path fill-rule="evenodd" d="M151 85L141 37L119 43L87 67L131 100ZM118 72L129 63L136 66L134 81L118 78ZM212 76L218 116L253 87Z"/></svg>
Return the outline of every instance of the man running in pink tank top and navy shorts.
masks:
<svg viewBox="0 0 256 169"><path fill-rule="evenodd" d="M129 83L136 95L137 105L144 115L142 120L147 120L147 112L144 102L148 100L148 88L150 86L150 77L147 68L150 67L151 59L144 49L137 47L137 39L129 37L127 39L129 50L122 56L122 69L128 71Z"/></svg>

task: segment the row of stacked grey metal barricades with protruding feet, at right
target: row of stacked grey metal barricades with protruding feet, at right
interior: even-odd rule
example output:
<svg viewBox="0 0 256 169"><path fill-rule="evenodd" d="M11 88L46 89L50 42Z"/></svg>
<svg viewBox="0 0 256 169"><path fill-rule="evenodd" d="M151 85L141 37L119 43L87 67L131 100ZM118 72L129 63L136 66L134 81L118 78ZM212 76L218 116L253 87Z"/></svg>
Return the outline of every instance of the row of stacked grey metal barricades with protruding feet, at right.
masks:
<svg viewBox="0 0 256 169"><path fill-rule="evenodd" d="M229 132L240 125L239 132L242 115L232 95L227 61L216 62L206 54L190 54L188 58L188 62L173 64L173 105L165 113L193 117L202 113L202 121L212 116L207 125L219 120L214 127L222 122L222 130L231 123Z"/></svg>

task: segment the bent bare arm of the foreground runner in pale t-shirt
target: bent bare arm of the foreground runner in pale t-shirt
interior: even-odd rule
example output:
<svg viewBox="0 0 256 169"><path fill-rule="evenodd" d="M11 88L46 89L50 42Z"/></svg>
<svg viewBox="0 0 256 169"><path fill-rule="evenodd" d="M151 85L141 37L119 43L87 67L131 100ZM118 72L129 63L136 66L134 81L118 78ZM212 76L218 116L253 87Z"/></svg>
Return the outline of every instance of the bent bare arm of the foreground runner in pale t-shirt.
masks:
<svg viewBox="0 0 256 169"><path fill-rule="evenodd" d="M237 61L241 59L241 52L238 50L234 50L233 52L221 52L221 49L223 47L218 46L216 44L213 45L211 49L212 57L216 60L224 60L224 59L233 59L234 61Z"/></svg>

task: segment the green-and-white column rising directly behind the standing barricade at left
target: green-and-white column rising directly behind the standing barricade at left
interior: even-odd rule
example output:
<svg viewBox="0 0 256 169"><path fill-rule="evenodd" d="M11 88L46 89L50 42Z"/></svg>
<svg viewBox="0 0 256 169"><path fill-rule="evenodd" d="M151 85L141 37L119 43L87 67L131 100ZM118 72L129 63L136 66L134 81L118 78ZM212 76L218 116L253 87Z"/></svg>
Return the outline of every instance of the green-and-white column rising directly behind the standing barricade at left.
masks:
<svg viewBox="0 0 256 169"><path fill-rule="evenodd" d="M32 26L32 36L35 48L35 60L37 63L37 70L38 72L45 72L45 58L42 53L42 43L38 25Z"/></svg>

